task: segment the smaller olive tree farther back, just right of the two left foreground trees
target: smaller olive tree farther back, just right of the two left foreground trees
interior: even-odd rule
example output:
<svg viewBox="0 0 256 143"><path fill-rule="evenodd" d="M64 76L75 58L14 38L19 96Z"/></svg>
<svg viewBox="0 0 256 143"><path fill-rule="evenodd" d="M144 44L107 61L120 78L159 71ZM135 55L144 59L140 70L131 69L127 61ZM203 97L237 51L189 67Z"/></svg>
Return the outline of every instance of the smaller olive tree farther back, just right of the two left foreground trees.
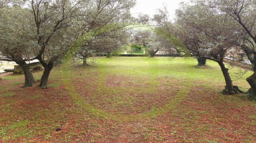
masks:
<svg viewBox="0 0 256 143"><path fill-rule="evenodd" d="M104 32L84 43L77 52L77 57L83 59L83 65L87 65L87 58L94 53L106 52L110 55L112 51L120 47L120 43L126 43L129 35L122 28L133 24L128 21L132 21L130 9L134 4L134 0L94 0L92 2L93 9L85 11L87 16L81 17L81 34L109 23L120 23L120 25L119 30Z"/></svg>

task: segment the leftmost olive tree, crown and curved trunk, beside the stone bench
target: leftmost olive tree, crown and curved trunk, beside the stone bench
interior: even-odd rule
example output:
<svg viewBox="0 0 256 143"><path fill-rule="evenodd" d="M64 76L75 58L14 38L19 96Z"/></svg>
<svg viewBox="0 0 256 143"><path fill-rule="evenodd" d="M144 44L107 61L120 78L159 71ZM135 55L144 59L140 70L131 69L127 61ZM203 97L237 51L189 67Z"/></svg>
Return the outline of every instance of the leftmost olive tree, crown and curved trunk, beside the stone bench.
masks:
<svg viewBox="0 0 256 143"><path fill-rule="evenodd" d="M32 86L35 80L26 61L35 59L32 49L39 47L33 40L34 27L29 24L33 19L28 9L17 5L2 7L0 13L0 52L3 55L0 60L19 64L25 75L22 88Z"/></svg>

